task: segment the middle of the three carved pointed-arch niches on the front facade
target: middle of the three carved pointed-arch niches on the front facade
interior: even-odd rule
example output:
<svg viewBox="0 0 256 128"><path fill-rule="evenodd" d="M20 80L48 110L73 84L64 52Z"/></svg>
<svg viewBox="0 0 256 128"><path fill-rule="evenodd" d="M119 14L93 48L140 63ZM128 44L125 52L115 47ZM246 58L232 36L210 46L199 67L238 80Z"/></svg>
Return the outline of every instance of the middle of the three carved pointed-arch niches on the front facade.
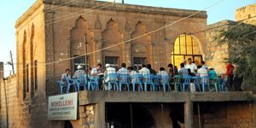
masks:
<svg viewBox="0 0 256 128"><path fill-rule="evenodd" d="M104 63L108 62L106 57L116 57L118 61L113 62L116 66L119 66L120 61L125 62L125 45L120 44L123 40L124 35L119 30L118 24L113 19L108 20L106 29L102 32L102 61ZM116 44L119 45L114 46Z"/></svg>

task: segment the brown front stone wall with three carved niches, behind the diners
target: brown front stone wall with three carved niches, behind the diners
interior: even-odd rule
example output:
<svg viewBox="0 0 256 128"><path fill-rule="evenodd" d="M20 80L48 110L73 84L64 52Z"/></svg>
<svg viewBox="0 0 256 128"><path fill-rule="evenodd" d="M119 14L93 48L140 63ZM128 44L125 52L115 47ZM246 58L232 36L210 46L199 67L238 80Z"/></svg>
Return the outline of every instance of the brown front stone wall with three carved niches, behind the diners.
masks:
<svg viewBox="0 0 256 128"><path fill-rule="evenodd" d="M86 33L89 44L88 52L98 50L89 55L90 67L95 67L99 62L104 64L105 56L114 55L119 57L119 64L125 62L127 66L132 65L133 57L146 57L147 62L158 70L159 67L166 67L167 63L172 62L172 46L179 35L197 32L207 27L207 15L206 12L202 12L143 38L137 38L191 15L195 10L112 4L102 9L86 9L81 13L84 8L79 6L63 5L63 8L57 8L57 4L58 2L45 4L45 8L49 9L45 14L45 20L48 22L45 25L45 32L53 35L46 37L46 44L49 49L54 49L46 52L48 58L52 61L61 61L73 55L84 55L84 33ZM83 3L88 8L105 4L107 3ZM73 16L62 20L68 15ZM52 20L54 23L50 24ZM194 36L205 51L205 34L198 33ZM126 44L119 44L131 38L137 39ZM114 44L119 44L119 46L100 50ZM66 68L71 68L73 72L73 60L55 63L47 69L50 70L50 74L58 78Z"/></svg>

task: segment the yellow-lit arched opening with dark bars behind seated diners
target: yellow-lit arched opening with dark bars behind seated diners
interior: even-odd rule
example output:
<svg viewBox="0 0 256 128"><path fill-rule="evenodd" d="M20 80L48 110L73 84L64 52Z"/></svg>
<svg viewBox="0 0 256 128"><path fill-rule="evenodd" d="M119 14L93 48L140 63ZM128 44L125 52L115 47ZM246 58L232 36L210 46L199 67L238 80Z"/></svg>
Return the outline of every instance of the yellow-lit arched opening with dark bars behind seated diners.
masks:
<svg viewBox="0 0 256 128"><path fill-rule="evenodd" d="M195 62L196 65L201 65L202 61L201 43L197 38L183 34L176 38L172 51L172 63L179 66L184 60L189 58Z"/></svg>

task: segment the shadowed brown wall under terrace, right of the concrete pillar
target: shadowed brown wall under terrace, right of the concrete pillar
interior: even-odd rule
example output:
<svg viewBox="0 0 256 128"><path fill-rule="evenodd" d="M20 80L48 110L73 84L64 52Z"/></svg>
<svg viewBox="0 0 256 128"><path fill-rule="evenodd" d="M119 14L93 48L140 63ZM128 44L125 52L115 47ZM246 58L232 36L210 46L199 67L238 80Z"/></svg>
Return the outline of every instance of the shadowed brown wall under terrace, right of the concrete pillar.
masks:
<svg viewBox="0 0 256 128"><path fill-rule="evenodd" d="M201 108L201 127L252 128L255 127L255 103L205 102ZM199 127L197 103L194 108L194 125Z"/></svg>

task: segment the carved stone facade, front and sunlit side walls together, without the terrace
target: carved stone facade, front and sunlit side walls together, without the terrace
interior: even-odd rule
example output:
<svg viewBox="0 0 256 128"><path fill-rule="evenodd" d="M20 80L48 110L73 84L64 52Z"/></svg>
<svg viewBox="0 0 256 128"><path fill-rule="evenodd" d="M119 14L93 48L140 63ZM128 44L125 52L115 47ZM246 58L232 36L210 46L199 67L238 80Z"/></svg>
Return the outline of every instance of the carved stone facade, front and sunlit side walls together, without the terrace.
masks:
<svg viewBox="0 0 256 128"><path fill-rule="evenodd" d="M47 97L58 94L56 80L66 68L75 70L79 61L73 57L85 58L84 34L90 67L115 57L117 66L143 60L158 70L172 62L178 36L207 27L204 11L167 26L195 12L93 0L38 0L15 25L20 121L14 127L60 125L47 121ZM193 36L205 51L205 33Z"/></svg>

